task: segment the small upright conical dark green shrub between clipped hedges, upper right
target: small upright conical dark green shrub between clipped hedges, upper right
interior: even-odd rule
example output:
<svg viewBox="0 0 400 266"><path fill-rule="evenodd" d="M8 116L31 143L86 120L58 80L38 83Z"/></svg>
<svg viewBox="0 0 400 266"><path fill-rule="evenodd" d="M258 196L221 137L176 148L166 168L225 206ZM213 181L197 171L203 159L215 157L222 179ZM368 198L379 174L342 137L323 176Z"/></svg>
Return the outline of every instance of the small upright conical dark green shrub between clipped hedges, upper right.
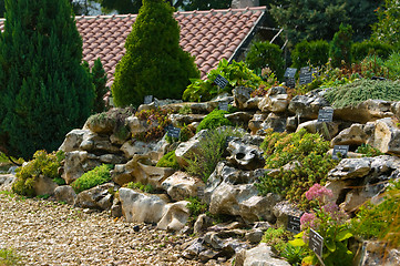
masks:
<svg viewBox="0 0 400 266"><path fill-rule="evenodd" d="M335 33L329 48L329 57L334 68L351 64L351 44L352 28L351 25L340 24L339 31Z"/></svg>

